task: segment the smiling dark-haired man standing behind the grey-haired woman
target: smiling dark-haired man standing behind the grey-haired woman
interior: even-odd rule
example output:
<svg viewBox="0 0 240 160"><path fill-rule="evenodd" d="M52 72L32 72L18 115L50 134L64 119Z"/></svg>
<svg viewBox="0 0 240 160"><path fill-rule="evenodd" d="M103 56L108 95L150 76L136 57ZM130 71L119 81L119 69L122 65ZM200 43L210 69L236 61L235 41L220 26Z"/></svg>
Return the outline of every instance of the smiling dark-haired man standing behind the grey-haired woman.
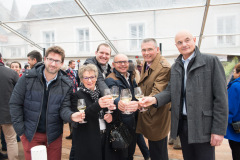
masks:
<svg viewBox="0 0 240 160"><path fill-rule="evenodd" d="M98 69L97 85L101 95L104 95L104 89L108 88L104 79L111 73L111 66L108 61L111 57L111 47L107 43L101 43L97 47L95 57L88 58L84 64L94 64Z"/></svg>

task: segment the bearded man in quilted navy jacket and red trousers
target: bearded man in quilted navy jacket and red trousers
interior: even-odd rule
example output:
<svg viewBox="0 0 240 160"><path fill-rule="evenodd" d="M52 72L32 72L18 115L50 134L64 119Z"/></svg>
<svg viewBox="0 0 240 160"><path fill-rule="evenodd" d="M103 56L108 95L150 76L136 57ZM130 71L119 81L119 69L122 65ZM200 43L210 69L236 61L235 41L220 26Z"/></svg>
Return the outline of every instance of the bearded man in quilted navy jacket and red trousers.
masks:
<svg viewBox="0 0 240 160"><path fill-rule="evenodd" d="M63 120L79 122L80 112L70 109L71 81L60 68L64 50L48 48L44 64L24 74L10 99L10 113L15 131L23 143L25 159L31 159L30 149L46 145L48 160L61 159Z"/></svg>

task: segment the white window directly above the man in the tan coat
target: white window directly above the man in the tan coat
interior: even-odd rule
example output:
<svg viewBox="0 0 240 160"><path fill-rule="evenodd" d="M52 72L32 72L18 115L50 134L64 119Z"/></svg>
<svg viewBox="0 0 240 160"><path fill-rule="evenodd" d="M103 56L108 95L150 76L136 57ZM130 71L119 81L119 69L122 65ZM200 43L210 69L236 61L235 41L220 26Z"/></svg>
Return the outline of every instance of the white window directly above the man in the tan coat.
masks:
<svg viewBox="0 0 240 160"><path fill-rule="evenodd" d="M144 38L144 24L130 25L130 50L139 50L142 39Z"/></svg>

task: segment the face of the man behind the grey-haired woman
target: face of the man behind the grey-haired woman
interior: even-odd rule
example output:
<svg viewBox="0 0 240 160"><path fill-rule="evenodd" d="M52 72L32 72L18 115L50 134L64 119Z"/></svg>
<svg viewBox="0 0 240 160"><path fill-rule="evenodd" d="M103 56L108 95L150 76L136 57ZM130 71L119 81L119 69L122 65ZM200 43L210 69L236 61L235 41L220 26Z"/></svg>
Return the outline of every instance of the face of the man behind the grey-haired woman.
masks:
<svg viewBox="0 0 240 160"><path fill-rule="evenodd" d="M106 65L111 57L111 49L101 45L98 51L95 52L96 59L101 65Z"/></svg>

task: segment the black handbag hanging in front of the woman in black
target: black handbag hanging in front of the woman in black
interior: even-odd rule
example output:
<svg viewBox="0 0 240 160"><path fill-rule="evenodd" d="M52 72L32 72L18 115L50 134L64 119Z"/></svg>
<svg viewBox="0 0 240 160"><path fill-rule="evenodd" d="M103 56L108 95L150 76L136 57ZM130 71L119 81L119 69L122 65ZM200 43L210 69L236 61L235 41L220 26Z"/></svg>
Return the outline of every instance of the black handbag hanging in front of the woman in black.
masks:
<svg viewBox="0 0 240 160"><path fill-rule="evenodd" d="M114 150L126 149L132 142L132 135L123 122L116 121L110 128L109 141Z"/></svg>

